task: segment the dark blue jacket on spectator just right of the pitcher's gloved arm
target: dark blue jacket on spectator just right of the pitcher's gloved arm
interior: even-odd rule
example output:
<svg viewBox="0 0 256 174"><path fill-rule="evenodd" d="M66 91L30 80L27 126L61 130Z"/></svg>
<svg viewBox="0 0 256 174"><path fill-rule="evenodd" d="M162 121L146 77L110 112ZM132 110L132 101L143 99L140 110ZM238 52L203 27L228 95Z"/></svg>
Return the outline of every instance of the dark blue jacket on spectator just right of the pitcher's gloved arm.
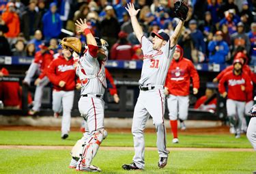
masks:
<svg viewBox="0 0 256 174"><path fill-rule="evenodd" d="M200 50L204 54L206 53L206 46L205 42L203 41L203 33L199 31L198 29L194 32L191 32L191 38L193 39L193 42L195 44L195 48L197 50Z"/></svg>

